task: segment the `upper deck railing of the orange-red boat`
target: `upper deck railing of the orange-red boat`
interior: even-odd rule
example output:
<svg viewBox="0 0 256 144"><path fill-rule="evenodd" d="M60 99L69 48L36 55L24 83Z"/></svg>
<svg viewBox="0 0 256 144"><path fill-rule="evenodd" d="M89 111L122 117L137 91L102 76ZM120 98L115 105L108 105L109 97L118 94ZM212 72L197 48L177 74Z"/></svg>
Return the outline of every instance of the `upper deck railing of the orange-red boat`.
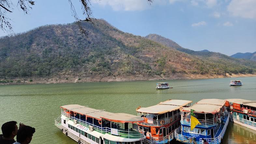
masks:
<svg viewBox="0 0 256 144"><path fill-rule="evenodd" d="M175 120L177 120L179 118L179 115L180 115L180 112L178 112L177 114L169 117L169 118L163 118L163 119L159 119L159 120L153 120L152 123L141 123L141 124L144 124L144 125L154 125L154 126L161 126L161 125L165 125L165 124L169 124Z"/></svg>

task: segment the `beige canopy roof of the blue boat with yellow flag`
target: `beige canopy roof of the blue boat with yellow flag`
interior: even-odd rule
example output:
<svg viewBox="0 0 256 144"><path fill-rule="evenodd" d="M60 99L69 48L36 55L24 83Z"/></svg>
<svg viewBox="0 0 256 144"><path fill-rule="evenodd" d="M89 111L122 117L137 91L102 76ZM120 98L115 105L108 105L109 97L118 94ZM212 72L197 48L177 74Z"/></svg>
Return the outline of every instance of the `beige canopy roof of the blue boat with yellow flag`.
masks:
<svg viewBox="0 0 256 144"><path fill-rule="evenodd" d="M190 112L195 110L194 113L211 113L215 114L221 110L226 100L223 99L202 99L191 107L183 107L182 111Z"/></svg>

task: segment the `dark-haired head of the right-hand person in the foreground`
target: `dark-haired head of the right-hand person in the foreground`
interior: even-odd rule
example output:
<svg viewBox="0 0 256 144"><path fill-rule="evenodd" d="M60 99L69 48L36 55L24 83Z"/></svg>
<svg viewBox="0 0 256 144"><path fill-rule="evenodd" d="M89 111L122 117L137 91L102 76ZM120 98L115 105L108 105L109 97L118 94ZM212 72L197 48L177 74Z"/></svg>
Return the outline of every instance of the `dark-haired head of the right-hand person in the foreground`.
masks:
<svg viewBox="0 0 256 144"><path fill-rule="evenodd" d="M28 144L32 140L32 136L35 132L34 127L22 125L17 133L17 141L22 144Z"/></svg>

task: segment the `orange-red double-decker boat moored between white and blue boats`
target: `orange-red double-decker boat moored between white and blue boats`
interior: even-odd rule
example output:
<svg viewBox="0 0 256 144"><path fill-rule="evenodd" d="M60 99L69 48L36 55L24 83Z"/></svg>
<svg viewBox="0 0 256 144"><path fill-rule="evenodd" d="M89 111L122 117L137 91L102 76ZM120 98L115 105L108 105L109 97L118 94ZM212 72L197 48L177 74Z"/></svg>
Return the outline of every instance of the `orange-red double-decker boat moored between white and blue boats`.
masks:
<svg viewBox="0 0 256 144"><path fill-rule="evenodd" d="M180 125L182 107L189 107L192 101L170 99L157 105L136 109L138 116L145 119L138 123L139 131L146 136L148 144L164 144L174 138L174 130Z"/></svg>

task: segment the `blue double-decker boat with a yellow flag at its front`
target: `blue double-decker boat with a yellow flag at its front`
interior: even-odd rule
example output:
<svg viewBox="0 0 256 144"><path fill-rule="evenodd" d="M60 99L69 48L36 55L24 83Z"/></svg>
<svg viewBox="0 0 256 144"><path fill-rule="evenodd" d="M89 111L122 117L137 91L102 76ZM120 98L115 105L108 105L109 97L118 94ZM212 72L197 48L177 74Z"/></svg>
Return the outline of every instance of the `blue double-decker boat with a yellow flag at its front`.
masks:
<svg viewBox="0 0 256 144"><path fill-rule="evenodd" d="M229 123L229 111L226 100L202 99L191 107L181 110L181 126L175 130L176 140L187 144L203 144L203 138L209 144L220 144ZM191 131L191 110L200 124Z"/></svg>

